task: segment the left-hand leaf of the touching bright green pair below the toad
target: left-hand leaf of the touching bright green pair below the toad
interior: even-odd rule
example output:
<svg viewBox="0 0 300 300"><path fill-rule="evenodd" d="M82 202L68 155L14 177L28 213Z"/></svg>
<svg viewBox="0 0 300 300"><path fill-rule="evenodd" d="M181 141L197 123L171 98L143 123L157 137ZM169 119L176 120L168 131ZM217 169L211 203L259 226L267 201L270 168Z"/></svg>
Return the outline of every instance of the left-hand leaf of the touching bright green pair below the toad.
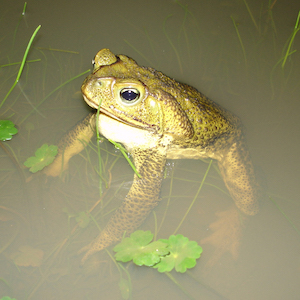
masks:
<svg viewBox="0 0 300 300"><path fill-rule="evenodd" d="M138 266L153 266L157 264L161 257L167 255L168 244L162 241L155 241L149 244L153 239L150 231L137 230L123 239L123 241L114 247L115 258L117 261L133 262Z"/></svg>

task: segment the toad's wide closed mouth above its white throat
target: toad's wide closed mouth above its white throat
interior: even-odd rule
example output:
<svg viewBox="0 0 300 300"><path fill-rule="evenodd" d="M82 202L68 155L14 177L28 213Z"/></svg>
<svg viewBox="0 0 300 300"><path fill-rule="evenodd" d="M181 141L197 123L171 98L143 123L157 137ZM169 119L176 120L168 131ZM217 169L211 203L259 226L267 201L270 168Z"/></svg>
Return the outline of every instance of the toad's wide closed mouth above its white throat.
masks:
<svg viewBox="0 0 300 300"><path fill-rule="evenodd" d="M96 103L93 101L93 99L88 98L83 94L83 98L85 102L92 108L98 110L99 108L99 103ZM101 105L101 104L100 104ZM125 125L132 126L135 128L143 129L143 130L149 130L149 131L154 131L156 129L156 125L154 124L148 124L134 116L127 116L127 119L130 119L131 121L125 120L124 118L120 117L120 115L125 115L125 113L121 110L116 109L114 106L110 107L109 109L104 108L103 106L100 106L99 109L100 113L106 115L109 118L112 118L118 122L121 122Z"/></svg>

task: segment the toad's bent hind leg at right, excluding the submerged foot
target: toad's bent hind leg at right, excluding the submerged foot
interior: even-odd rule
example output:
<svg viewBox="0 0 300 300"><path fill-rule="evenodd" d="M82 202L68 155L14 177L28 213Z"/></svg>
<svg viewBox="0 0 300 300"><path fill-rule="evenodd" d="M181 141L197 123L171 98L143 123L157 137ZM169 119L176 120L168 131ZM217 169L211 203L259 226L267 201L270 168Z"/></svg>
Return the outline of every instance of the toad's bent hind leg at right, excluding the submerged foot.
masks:
<svg viewBox="0 0 300 300"><path fill-rule="evenodd" d="M244 138L223 152L218 165L236 206L246 215L255 215L259 209L259 185Z"/></svg>

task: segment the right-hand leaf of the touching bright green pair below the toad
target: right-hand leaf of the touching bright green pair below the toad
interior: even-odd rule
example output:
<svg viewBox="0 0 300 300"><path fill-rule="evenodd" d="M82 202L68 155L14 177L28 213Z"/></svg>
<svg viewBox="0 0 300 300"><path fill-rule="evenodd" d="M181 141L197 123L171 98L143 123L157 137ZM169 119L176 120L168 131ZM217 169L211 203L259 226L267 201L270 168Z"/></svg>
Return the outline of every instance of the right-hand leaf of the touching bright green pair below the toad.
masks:
<svg viewBox="0 0 300 300"><path fill-rule="evenodd" d="M200 257L202 248L195 241L189 241L181 234L171 235L168 240L160 239L168 245L170 254L162 257L154 266L158 272L170 272L174 267L177 272L184 273L187 269L196 265L196 259Z"/></svg>

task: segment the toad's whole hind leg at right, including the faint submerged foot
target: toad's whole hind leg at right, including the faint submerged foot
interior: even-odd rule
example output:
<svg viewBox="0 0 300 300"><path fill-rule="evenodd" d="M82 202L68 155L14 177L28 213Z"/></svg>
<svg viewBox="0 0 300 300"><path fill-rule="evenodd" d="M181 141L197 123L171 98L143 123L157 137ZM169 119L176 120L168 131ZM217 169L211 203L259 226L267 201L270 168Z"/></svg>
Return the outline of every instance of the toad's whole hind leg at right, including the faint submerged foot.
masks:
<svg viewBox="0 0 300 300"><path fill-rule="evenodd" d="M217 213L218 219L209 226L213 233L201 240L202 244L216 247L207 267L214 265L225 252L230 252L235 259L238 257L246 215L255 215L258 212L259 186L245 141L235 140L223 150L218 164L227 189L244 214L240 214L236 208Z"/></svg>

